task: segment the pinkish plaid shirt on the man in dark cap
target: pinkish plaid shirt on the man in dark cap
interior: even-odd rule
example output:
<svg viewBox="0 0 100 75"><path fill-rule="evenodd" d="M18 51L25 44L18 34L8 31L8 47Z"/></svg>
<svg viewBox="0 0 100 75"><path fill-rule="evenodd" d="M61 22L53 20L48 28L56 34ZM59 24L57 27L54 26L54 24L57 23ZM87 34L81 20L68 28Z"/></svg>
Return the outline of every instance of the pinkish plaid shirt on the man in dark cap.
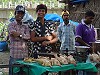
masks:
<svg viewBox="0 0 100 75"><path fill-rule="evenodd" d="M13 38L10 34L12 31L16 31L21 33L22 38L16 37ZM30 33L28 25L18 25L16 21L10 23L8 25L8 33L9 33L9 48L10 48L10 56L13 58L24 58L28 56L27 49L27 41L25 39L30 39Z"/></svg>

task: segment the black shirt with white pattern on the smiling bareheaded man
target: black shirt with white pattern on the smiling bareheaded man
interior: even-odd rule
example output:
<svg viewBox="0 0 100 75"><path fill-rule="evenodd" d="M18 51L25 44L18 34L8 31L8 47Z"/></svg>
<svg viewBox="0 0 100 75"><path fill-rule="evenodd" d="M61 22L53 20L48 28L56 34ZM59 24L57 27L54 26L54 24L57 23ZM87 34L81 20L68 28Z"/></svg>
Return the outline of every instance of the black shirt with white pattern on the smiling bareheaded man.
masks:
<svg viewBox="0 0 100 75"><path fill-rule="evenodd" d="M38 18L36 21L34 21L34 25L32 25L30 28L31 31L35 32L35 37L48 36L55 32L52 23L45 20L44 25L42 25ZM38 50L39 52L47 52L47 50L52 50L50 45L42 46L42 42L43 41L33 42L32 50Z"/></svg>

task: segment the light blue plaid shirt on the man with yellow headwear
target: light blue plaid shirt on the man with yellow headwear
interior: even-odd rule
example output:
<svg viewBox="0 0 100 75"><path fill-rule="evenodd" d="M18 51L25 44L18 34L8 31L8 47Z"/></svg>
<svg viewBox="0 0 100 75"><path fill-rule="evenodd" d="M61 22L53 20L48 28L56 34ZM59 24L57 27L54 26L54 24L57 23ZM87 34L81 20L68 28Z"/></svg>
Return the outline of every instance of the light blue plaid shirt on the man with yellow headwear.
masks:
<svg viewBox="0 0 100 75"><path fill-rule="evenodd" d="M65 25L64 22L58 26L58 39L61 42L60 50L75 50L75 26L69 22Z"/></svg>

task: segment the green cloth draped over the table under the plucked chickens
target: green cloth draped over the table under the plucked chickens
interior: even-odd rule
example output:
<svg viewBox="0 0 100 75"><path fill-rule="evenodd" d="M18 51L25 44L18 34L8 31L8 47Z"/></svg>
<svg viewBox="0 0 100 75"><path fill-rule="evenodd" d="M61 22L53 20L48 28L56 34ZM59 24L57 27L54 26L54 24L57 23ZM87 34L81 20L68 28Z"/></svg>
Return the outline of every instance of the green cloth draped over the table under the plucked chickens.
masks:
<svg viewBox="0 0 100 75"><path fill-rule="evenodd" d="M97 72L97 68L92 63L77 63L77 65L73 64L67 64L67 65L61 65L60 66L52 66L52 67L44 67L39 65L37 62L34 63L26 63L24 61L17 61L19 64L24 64L29 67L29 70L27 70L27 67L23 68L23 71L25 71L27 74L29 72L29 75L41 75L44 72L59 72L59 71L67 71L67 70L84 70L84 71L91 71L91 72ZM19 68L14 68L14 73L18 72Z"/></svg>

